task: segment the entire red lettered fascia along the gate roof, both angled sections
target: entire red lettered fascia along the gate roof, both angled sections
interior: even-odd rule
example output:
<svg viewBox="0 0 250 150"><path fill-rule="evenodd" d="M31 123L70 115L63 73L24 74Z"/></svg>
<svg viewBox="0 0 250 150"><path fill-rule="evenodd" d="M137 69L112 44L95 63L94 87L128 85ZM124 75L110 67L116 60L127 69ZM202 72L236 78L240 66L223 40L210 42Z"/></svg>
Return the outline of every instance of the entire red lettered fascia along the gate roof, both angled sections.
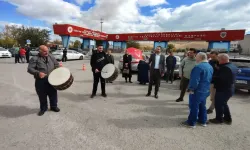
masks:
<svg viewBox="0 0 250 150"><path fill-rule="evenodd" d="M107 41L239 41L245 30L106 34L69 24L53 25L54 33Z"/></svg>

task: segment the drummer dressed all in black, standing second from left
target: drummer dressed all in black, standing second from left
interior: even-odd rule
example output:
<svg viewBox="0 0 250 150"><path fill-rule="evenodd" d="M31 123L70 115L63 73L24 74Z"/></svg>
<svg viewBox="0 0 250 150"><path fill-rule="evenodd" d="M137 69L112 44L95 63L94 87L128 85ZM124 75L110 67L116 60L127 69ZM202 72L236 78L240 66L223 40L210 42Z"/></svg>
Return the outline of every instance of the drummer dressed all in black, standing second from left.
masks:
<svg viewBox="0 0 250 150"><path fill-rule="evenodd" d="M91 98L96 96L97 86L99 80L101 80L101 89L102 89L102 96L107 97L105 91L105 79L101 76L102 68L108 64L108 59L106 53L103 51L103 45L98 45L97 52L92 54L90 65L92 67L94 83L93 83L93 90L91 94Z"/></svg>

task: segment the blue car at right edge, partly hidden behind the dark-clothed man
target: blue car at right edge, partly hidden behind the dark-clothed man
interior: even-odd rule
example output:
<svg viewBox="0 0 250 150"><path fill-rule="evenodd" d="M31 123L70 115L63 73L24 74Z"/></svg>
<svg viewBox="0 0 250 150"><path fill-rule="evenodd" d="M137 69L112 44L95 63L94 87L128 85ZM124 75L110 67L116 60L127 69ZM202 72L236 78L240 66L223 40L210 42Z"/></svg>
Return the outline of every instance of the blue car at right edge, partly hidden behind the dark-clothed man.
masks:
<svg viewBox="0 0 250 150"><path fill-rule="evenodd" d="M247 58L230 58L230 62L238 68L235 88L245 89L250 93L250 59Z"/></svg>

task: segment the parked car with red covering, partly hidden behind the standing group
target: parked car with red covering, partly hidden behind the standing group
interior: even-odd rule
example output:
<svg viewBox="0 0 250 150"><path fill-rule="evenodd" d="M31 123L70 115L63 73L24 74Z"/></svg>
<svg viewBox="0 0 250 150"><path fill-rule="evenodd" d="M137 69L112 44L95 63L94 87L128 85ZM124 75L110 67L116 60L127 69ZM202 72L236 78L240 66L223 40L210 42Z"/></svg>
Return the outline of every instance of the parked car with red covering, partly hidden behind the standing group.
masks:
<svg viewBox="0 0 250 150"><path fill-rule="evenodd" d="M128 48L127 50L132 55L131 70L138 71L137 66L139 64L139 61L143 59L142 57L144 56L144 54L142 54L141 50L132 47ZM120 70L123 69L123 55L120 57L118 67Z"/></svg>

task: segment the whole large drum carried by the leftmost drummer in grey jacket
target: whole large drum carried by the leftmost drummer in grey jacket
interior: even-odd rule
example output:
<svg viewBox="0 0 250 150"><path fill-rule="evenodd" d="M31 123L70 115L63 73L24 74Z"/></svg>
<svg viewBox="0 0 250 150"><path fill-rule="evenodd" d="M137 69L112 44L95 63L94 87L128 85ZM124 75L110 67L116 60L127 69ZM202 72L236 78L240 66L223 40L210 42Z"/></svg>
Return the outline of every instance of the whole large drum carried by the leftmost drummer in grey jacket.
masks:
<svg viewBox="0 0 250 150"><path fill-rule="evenodd" d="M66 90L74 82L74 77L69 69L60 67L50 73L48 80L55 89Z"/></svg>

